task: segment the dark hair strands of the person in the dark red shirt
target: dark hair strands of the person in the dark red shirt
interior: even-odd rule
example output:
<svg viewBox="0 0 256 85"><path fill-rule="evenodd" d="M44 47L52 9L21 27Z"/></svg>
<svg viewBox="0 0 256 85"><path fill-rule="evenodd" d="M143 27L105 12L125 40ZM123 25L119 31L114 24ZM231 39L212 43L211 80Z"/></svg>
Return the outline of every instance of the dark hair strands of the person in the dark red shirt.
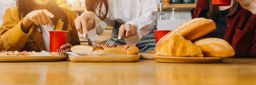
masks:
<svg viewBox="0 0 256 85"><path fill-rule="evenodd" d="M233 4L229 9L228 15L235 14L239 6L240 6L239 3L236 0L233 0ZM216 20L219 14L220 14L220 10L218 6L213 6L212 0L209 0L209 10L207 11L207 18L211 20Z"/></svg>

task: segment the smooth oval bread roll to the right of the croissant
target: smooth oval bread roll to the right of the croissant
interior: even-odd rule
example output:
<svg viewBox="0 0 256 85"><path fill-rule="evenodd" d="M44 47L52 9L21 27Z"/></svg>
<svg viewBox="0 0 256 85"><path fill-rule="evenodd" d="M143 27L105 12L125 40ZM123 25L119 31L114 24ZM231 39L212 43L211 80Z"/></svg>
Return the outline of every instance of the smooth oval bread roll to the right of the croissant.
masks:
<svg viewBox="0 0 256 85"><path fill-rule="evenodd" d="M194 45L202 49L205 57L233 57L235 55L232 46L223 39L205 38L196 40Z"/></svg>

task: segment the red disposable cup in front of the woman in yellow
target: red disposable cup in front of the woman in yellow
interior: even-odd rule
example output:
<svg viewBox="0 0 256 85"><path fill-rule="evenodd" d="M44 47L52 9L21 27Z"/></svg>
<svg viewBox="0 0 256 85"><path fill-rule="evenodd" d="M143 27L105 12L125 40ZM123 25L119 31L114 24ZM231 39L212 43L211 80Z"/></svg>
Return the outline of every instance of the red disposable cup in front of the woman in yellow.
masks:
<svg viewBox="0 0 256 85"><path fill-rule="evenodd" d="M50 34L50 52L56 52L61 45L66 44L68 31L49 31Z"/></svg>

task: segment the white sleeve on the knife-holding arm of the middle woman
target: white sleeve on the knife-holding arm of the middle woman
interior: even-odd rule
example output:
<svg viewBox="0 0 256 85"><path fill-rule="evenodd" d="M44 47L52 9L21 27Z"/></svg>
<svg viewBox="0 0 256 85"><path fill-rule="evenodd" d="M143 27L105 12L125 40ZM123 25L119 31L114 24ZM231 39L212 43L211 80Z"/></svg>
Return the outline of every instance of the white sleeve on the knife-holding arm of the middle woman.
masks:
<svg viewBox="0 0 256 85"><path fill-rule="evenodd" d="M86 13L87 11L84 11L84 13ZM82 13L82 14L84 14ZM81 14L81 15L82 15ZM103 20L100 20L99 17L97 17L97 15L94 13L94 20L95 20L95 28L93 28L92 30L88 31L88 36L90 37L91 41L95 41L96 39L96 34L100 35L102 34L102 32L104 31L104 29L107 26L107 23ZM83 39L83 34L78 32L78 35L80 38Z"/></svg>

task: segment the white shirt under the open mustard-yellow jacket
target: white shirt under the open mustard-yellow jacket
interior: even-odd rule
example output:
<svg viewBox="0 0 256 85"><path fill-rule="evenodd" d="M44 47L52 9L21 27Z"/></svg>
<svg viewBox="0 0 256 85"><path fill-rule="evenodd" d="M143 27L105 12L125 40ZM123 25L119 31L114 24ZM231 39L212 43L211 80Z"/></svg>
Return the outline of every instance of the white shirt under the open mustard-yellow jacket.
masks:
<svg viewBox="0 0 256 85"><path fill-rule="evenodd" d="M47 27L46 25L45 26L40 26L41 30L39 29L39 31L42 32L42 37L44 39L44 45L47 49L47 51L49 52L50 50L50 34L49 34L49 31L53 31L54 29L54 25L50 26L50 27Z"/></svg>

